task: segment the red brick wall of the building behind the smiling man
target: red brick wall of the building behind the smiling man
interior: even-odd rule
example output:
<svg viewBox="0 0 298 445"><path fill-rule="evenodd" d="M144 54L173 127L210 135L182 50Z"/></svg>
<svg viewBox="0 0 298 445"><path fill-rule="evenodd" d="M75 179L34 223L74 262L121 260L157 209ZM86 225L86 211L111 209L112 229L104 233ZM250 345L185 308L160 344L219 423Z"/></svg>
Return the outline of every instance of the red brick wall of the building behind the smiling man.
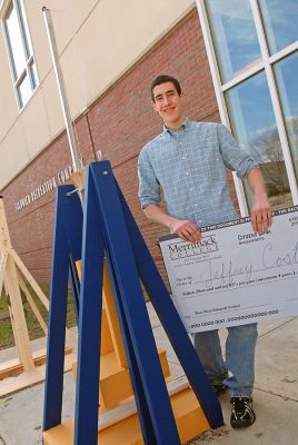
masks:
<svg viewBox="0 0 298 445"><path fill-rule="evenodd" d="M149 96L150 82L160 73L172 75L181 81L187 115L191 119L219 121L198 16L193 11L93 103L76 126L83 161L95 160L97 150L111 161L128 205L165 277L156 243L166 230L145 218L137 198L138 154L162 128ZM47 283L50 276L54 191L18 212L13 205L70 164L67 137L62 135L2 190L12 244L39 283ZM236 202L230 175L228 179Z"/></svg>

